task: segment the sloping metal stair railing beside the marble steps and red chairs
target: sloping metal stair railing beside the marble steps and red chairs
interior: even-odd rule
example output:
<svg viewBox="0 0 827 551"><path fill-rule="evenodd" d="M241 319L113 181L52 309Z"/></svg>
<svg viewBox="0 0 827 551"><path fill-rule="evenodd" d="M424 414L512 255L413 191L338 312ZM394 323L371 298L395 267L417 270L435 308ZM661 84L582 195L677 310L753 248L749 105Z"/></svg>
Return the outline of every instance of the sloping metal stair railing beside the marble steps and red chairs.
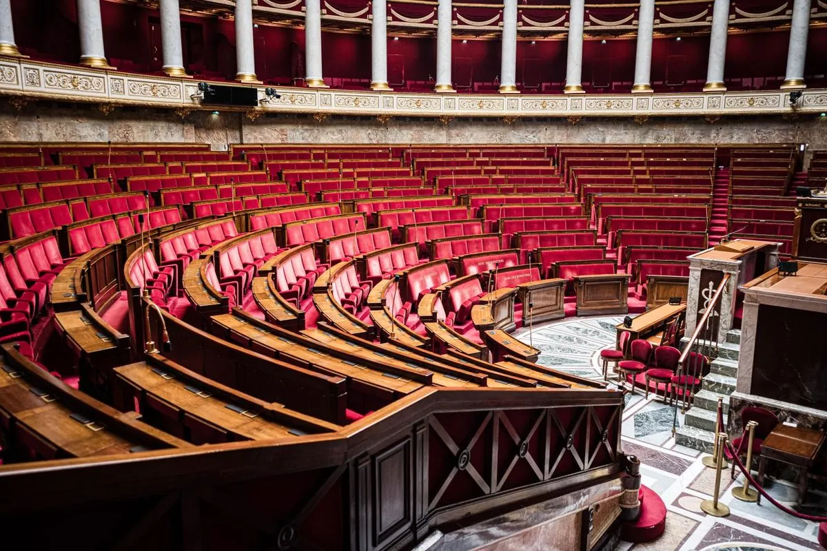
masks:
<svg viewBox="0 0 827 551"><path fill-rule="evenodd" d="M700 384L703 382L703 370L706 363L711 362L712 359L718 356L718 324L713 322L715 318L719 318L719 313L715 309L719 305L721 297L724 296L730 277L731 274L724 273L724 278L721 280L721 283L718 284L715 293L713 293L708 302L705 302L703 310L701 310L704 315L700 317L700 321L696 324L695 330L692 331L692 336L681 352L681 358L678 359L677 375L678 377L682 377L678 379L678 381L682 381L680 384L681 413L686 413L688 407L691 407L689 389L692 389L694 395L695 387L700 387ZM703 356L703 361L700 362L700 365L698 365L698 356L691 353ZM692 384L694 378L697 378L699 381L697 385ZM675 411L672 417L672 436L674 436L677 431L677 400L673 401L673 406L675 406Z"/></svg>

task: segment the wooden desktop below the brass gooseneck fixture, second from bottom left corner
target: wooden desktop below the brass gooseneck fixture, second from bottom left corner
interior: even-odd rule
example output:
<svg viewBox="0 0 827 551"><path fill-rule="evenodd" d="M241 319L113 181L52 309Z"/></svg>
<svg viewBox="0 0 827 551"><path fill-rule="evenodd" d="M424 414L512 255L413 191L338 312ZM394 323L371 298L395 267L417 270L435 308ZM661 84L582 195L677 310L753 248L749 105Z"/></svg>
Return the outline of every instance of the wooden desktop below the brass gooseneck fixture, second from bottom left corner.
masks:
<svg viewBox="0 0 827 551"><path fill-rule="evenodd" d="M132 363L122 368L115 368L115 371L136 387L143 388L146 392L186 411L189 415L237 435L254 440L293 436L289 432L289 426L257 416L253 411L247 414L233 411L227 407L227 404L231 402L209 396L208 391L205 391L207 397L198 396L187 390L186 382L174 377L170 378L170 374L162 377L146 364Z"/></svg>

